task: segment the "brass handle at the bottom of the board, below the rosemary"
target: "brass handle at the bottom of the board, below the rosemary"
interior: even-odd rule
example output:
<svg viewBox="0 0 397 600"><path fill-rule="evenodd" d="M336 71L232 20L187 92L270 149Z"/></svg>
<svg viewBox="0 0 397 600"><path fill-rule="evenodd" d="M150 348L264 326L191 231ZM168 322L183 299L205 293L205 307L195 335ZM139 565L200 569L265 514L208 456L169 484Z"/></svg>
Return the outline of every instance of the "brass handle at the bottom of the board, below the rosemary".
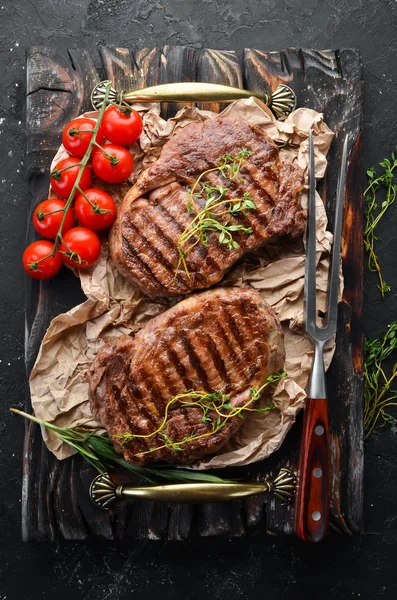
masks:
<svg viewBox="0 0 397 600"><path fill-rule="evenodd" d="M132 486L115 483L109 473L97 475L90 486L91 500L102 509L108 509L116 500L144 498L157 502L223 502L256 494L274 494L283 502L292 500L296 477L282 468L274 479L269 476L255 483L176 483L154 486Z"/></svg>

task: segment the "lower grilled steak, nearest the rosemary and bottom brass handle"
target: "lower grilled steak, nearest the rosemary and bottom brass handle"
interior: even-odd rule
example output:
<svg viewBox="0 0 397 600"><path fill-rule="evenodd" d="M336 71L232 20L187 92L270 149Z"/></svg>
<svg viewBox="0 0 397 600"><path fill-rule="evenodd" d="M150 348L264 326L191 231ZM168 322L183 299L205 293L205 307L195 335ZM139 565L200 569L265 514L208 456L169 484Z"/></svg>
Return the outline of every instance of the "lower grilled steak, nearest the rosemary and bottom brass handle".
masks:
<svg viewBox="0 0 397 600"><path fill-rule="evenodd" d="M179 401L168 407L165 419L171 397L222 391L232 407L250 404L251 388L282 370L284 359L281 326L256 291L203 292L152 319L134 339L121 336L99 351L88 375L92 411L126 460L189 462L216 452L242 419L233 416L212 433L214 410L203 422L199 405ZM150 436L164 419L161 431ZM126 433L148 437L126 442L120 438ZM186 436L193 439L184 443ZM165 440L182 444L179 450L164 447Z"/></svg>

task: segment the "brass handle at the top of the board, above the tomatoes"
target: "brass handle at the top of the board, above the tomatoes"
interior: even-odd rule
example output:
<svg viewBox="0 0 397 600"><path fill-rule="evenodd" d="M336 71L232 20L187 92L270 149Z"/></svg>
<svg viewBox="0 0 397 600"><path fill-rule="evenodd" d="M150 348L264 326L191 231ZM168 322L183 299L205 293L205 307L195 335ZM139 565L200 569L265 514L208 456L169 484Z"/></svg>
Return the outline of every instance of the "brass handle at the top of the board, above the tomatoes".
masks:
<svg viewBox="0 0 397 600"><path fill-rule="evenodd" d="M99 110L104 96L106 85L110 82L101 81L91 93L91 104ZM285 83L280 83L271 94L253 92L229 85L205 83L200 81L187 81L179 83L164 83L140 90L116 91L111 88L109 101L113 103L127 102L233 102L239 98L255 96L264 102L274 113L277 119L285 119L297 105L295 92Z"/></svg>

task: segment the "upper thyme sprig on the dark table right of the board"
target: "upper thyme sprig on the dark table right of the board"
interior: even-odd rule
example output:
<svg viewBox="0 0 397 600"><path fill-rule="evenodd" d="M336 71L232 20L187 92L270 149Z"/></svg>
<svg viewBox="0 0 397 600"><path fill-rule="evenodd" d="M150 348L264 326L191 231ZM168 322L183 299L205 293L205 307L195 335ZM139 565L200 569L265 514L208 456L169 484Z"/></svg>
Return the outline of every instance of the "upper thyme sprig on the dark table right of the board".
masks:
<svg viewBox="0 0 397 600"><path fill-rule="evenodd" d="M391 160L384 158L379 165L383 168L380 175L376 174L373 167L367 170L368 186L363 194L366 205L364 210L364 246L368 253L368 268L370 271L377 273L379 280L377 287L384 298L391 288L383 279L379 258L375 252L375 242L379 241L375 229L387 209L396 199L397 181L393 171L397 167L397 158L394 152L391 153ZM381 188L385 190L385 196L379 205L378 191Z"/></svg>

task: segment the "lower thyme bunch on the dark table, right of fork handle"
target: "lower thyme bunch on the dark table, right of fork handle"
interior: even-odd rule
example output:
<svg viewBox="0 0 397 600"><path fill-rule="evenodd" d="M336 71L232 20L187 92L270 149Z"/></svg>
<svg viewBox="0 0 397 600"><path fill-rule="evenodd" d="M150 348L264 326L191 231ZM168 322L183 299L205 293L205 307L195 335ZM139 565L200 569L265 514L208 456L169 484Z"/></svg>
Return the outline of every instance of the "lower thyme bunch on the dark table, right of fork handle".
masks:
<svg viewBox="0 0 397 600"><path fill-rule="evenodd" d="M386 412L397 406L397 390L392 389L397 377L397 362L390 375L386 374L384 361L397 350L397 321L391 323L386 333L378 338L365 339L364 345L364 437L368 438L379 422L394 423Z"/></svg>

